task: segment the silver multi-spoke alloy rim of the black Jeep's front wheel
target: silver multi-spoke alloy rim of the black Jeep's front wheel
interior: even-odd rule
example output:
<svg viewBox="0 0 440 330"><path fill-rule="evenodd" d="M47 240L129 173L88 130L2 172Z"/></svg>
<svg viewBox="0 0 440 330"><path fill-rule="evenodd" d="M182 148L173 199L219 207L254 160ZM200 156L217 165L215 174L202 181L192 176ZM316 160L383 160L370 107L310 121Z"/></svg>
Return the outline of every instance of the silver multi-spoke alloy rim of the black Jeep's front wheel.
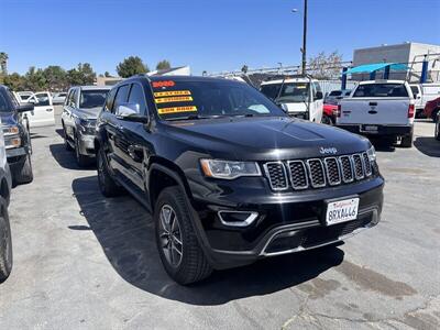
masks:
<svg viewBox="0 0 440 330"><path fill-rule="evenodd" d="M183 258L183 242L177 215L169 205L162 206L160 213L160 240L168 264L178 267Z"/></svg>

